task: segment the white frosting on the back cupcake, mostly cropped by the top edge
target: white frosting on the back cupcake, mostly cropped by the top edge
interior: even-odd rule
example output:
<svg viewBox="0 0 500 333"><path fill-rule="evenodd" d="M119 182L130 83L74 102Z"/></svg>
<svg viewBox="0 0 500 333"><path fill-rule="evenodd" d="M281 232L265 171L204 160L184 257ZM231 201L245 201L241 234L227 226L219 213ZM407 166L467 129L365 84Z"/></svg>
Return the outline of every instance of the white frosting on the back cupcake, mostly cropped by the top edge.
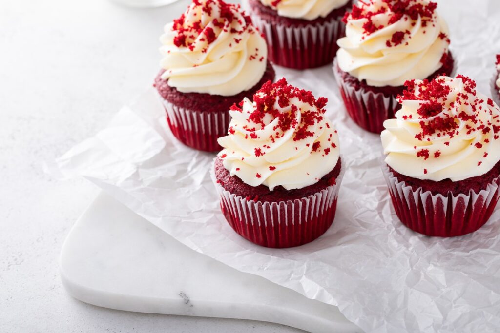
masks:
<svg viewBox="0 0 500 333"><path fill-rule="evenodd" d="M333 9L340 8L350 0L260 0L262 4L277 10L279 16L301 18L311 21L326 17Z"/></svg>

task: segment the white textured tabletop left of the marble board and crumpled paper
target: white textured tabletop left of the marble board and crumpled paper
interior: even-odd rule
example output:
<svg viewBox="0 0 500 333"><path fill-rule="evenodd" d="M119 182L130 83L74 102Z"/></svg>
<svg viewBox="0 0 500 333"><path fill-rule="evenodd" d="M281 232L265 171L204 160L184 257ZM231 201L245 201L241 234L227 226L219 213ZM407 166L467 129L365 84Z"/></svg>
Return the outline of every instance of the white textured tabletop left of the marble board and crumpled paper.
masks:
<svg viewBox="0 0 500 333"><path fill-rule="evenodd" d="M0 332L299 332L97 308L61 285L62 242L98 189L54 180L42 163L151 84L162 27L186 3L129 9L108 0L0 0Z"/></svg>

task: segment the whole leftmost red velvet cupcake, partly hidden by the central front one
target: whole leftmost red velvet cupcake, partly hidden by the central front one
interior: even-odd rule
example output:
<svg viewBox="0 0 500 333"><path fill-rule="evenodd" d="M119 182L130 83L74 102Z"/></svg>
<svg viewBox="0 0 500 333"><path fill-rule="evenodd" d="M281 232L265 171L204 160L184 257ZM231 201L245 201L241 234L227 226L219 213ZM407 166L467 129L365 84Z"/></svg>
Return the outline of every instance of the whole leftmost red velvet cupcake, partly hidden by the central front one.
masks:
<svg viewBox="0 0 500 333"><path fill-rule="evenodd" d="M193 0L160 41L154 86L170 130L189 147L220 150L231 105L274 79L265 40L239 5Z"/></svg>

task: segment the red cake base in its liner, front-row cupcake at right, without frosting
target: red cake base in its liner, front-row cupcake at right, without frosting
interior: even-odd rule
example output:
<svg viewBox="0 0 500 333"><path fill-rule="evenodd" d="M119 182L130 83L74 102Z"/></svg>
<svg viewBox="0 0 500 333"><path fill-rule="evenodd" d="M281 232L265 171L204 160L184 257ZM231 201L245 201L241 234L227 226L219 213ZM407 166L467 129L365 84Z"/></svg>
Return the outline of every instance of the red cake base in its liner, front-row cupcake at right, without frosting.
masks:
<svg viewBox="0 0 500 333"><path fill-rule="evenodd" d="M420 234L455 237L482 227L498 202L500 162L488 173L459 182L433 182L382 168L399 220Z"/></svg>

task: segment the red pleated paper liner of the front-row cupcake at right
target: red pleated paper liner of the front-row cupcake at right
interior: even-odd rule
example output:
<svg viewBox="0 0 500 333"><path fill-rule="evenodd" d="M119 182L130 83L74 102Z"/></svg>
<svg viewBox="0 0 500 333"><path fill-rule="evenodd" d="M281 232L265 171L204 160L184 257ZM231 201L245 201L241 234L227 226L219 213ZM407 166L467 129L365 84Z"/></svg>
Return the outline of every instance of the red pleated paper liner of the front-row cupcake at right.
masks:
<svg viewBox="0 0 500 333"><path fill-rule="evenodd" d="M475 193L447 196L412 190L400 182L387 165L382 172L389 187L392 205L399 220L409 229L427 236L455 237L469 234L482 227L491 216L500 191L500 177Z"/></svg>

